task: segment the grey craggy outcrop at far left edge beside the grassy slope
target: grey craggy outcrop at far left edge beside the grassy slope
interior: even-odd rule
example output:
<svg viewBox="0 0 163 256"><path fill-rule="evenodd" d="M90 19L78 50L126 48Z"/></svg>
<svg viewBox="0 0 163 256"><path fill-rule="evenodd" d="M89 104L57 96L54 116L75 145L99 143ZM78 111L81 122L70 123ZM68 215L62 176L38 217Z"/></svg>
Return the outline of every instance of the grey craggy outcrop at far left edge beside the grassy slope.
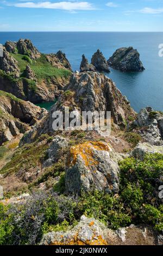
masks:
<svg viewBox="0 0 163 256"><path fill-rule="evenodd" d="M17 66L17 61L9 55L9 53L3 47L3 57L0 57L0 69L6 74L12 74L13 77L20 77L20 70Z"/></svg>

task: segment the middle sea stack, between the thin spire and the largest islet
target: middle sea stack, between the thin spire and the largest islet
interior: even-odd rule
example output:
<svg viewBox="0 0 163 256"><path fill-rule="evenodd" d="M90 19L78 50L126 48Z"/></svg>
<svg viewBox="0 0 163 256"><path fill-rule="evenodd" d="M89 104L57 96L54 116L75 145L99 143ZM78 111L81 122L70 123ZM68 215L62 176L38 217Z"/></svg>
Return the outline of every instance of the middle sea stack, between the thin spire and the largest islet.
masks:
<svg viewBox="0 0 163 256"><path fill-rule="evenodd" d="M91 64L95 66L96 70L99 72L110 72L109 65L106 62L101 51L97 50L95 54L93 54L91 59Z"/></svg>

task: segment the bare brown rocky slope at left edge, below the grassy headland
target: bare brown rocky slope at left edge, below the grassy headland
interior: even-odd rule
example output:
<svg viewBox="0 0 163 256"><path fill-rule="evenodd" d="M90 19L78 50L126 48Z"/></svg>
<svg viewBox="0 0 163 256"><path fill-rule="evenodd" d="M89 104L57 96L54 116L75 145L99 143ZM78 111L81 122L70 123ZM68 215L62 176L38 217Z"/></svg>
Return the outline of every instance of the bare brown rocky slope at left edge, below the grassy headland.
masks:
<svg viewBox="0 0 163 256"><path fill-rule="evenodd" d="M39 120L46 114L46 109L0 91L0 145L29 130L33 119Z"/></svg>

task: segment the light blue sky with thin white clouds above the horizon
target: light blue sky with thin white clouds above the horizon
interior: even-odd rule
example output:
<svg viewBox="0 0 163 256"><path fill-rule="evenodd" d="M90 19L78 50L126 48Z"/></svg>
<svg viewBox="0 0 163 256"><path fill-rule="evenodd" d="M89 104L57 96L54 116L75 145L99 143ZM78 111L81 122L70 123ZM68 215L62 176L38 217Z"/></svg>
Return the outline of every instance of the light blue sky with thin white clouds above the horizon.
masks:
<svg viewBox="0 0 163 256"><path fill-rule="evenodd" d="M162 32L163 0L0 0L0 32Z"/></svg>

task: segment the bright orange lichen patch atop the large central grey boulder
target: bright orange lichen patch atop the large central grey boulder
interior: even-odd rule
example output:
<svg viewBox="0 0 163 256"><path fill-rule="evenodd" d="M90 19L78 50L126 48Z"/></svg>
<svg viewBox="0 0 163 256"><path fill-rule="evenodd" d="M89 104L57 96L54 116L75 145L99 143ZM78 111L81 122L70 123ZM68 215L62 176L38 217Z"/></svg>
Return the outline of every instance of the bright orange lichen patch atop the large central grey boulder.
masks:
<svg viewBox="0 0 163 256"><path fill-rule="evenodd" d="M79 155L84 160L85 166L96 166L98 162L95 160L93 150L110 151L110 147L104 142L85 142L83 144L78 144L70 149L68 166L70 166L70 164L76 164Z"/></svg>

